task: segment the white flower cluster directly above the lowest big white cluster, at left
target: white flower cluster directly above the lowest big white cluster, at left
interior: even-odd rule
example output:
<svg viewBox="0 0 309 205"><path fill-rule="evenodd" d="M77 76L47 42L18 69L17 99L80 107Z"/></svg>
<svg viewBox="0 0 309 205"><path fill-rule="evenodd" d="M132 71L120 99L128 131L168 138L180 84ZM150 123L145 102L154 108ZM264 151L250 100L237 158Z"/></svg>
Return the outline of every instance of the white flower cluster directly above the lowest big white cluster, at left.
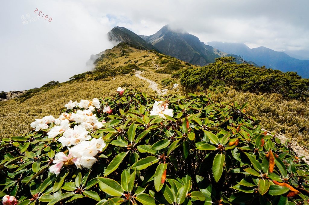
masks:
<svg viewBox="0 0 309 205"><path fill-rule="evenodd" d="M88 135L89 132L83 128L81 125L75 125L74 129L67 129L58 141L61 142L63 146L70 147L71 145L79 144L85 140L91 139L91 136Z"/></svg>

